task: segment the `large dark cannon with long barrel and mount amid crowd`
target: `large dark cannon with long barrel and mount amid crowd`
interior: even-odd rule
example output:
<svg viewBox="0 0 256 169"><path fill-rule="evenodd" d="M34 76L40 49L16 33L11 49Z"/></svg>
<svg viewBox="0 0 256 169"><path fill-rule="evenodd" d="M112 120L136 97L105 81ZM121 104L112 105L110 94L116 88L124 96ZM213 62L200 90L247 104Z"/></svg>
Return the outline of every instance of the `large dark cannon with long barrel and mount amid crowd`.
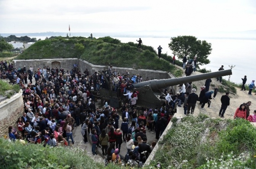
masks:
<svg viewBox="0 0 256 169"><path fill-rule="evenodd" d="M165 102L164 96L160 89L167 88L170 86L179 85L182 83L201 81L210 78L216 78L225 75L232 75L231 69L222 70L218 72L204 73L200 75L190 75L186 77L171 78L171 79L161 79L161 80L151 80L143 81L140 83L134 84L134 88L139 92L137 106L148 107L148 108L159 108ZM106 82L109 82L105 75L103 75ZM98 93L98 97L101 98L101 103L108 101L111 106L121 107L122 100L120 99L120 93L114 92L112 90L107 90L101 88Z"/></svg>

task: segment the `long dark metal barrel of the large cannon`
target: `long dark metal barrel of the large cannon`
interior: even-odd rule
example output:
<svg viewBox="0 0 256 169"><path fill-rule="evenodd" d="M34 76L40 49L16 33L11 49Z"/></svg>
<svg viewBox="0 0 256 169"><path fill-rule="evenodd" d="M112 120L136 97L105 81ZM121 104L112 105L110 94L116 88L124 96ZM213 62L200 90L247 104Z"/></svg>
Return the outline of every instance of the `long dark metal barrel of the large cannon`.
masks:
<svg viewBox="0 0 256 169"><path fill-rule="evenodd" d="M182 83L188 83L192 81L201 81L205 79L221 77L225 75L232 75L231 69L221 70L217 72L204 73L200 75L190 75L186 77L178 77L171 79L161 79L161 80L151 80L151 81L142 81L140 83L134 84L134 88L142 88L143 86L149 85L153 91L157 91L161 88L167 88L169 86L175 86Z"/></svg>

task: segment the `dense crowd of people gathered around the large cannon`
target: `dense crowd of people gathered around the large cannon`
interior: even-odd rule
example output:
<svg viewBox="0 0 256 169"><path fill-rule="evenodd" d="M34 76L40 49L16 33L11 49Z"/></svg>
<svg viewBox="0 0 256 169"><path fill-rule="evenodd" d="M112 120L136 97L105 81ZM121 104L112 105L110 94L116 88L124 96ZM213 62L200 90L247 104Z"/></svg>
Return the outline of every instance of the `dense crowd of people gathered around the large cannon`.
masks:
<svg viewBox="0 0 256 169"><path fill-rule="evenodd" d="M186 75L195 71L195 64L196 57L191 63L185 64ZM138 93L133 84L141 82L142 76L129 75L128 71L121 74L110 66L107 71L89 75L87 69L81 73L76 64L70 71L50 69L48 66L43 69L39 67L36 71L32 66L28 70L26 66L14 69L12 63L7 62L0 62L0 65L0 78L20 85L23 91L24 112L17 119L17 130L13 126L8 128L11 140L20 140L23 144L27 141L52 147L69 146L74 144L74 127L81 126L84 143L87 144L88 139L91 139L93 155L97 154L97 148L101 148L102 155L106 156L106 165L111 162L121 163L120 152L125 151L123 161L133 167L141 166L156 144L153 142L150 146L147 143L147 134L155 133L155 138L159 139L176 112L176 106L182 107L183 104L184 114L193 114L197 101L200 101L202 109L206 103L210 108L211 95L214 94L214 99L218 92L218 87L209 91L210 79L202 86L199 96L190 82L183 83L176 94L172 90L167 92L166 104L160 109L137 110ZM120 90L121 99L127 100L121 108L121 125L115 107L107 102L102 108L95 106L97 97L93 92L99 88ZM229 106L229 93L222 96L221 102L219 115L224 117ZM256 122L256 111L254 115L249 115L250 104L250 101L242 104L234 118ZM126 144L127 149L121 150L121 144Z"/></svg>

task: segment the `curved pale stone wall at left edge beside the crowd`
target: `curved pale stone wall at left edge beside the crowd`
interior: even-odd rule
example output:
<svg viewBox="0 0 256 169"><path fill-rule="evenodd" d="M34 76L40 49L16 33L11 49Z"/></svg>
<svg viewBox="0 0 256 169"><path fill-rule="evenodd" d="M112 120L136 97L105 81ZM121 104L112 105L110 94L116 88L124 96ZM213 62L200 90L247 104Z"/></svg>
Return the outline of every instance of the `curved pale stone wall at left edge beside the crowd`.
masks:
<svg viewBox="0 0 256 169"><path fill-rule="evenodd" d="M0 102L0 137L8 136L8 126L12 125L17 130L16 121L24 112L22 91L10 99Z"/></svg>

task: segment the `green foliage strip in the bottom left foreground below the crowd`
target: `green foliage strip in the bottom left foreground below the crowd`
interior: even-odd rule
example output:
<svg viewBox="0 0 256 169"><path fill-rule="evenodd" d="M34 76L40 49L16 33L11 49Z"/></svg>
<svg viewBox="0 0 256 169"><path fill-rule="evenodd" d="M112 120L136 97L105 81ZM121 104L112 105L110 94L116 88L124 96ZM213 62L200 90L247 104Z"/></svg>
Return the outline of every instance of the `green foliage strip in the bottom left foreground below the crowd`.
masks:
<svg viewBox="0 0 256 169"><path fill-rule="evenodd" d="M95 161L81 148L43 147L42 144L8 142L0 138L1 169L120 169Z"/></svg>

